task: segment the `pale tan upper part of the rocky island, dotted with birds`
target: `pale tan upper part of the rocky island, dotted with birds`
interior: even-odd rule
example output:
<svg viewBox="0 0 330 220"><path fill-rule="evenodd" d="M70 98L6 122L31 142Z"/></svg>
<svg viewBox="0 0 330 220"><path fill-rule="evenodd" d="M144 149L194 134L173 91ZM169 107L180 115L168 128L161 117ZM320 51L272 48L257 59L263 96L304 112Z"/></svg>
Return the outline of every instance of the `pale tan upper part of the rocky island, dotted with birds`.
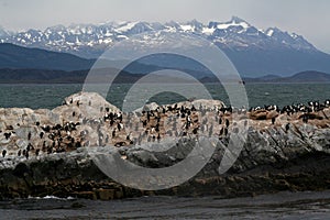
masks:
<svg viewBox="0 0 330 220"><path fill-rule="evenodd" d="M292 124L302 123L330 128L330 100L323 103L312 101L308 105L292 105L282 109L276 106L256 107L249 111L226 107L221 101L212 100L211 105L204 105L197 100L127 113L107 105L100 107L97 103L95 107L94 100L79 99L81 96L64 101L58 110L66 112L62 123L41 120L21 125L20 120L15 124L3 121L0 127L2 157L12 155L28 160L81 146L141 145L173 136L208 135L223 140L230 132L238 132L239 123L258 128L261 132L268 127L288 132ZM99 113L86 113L81 110L86 106L98 108Z"/></svg>

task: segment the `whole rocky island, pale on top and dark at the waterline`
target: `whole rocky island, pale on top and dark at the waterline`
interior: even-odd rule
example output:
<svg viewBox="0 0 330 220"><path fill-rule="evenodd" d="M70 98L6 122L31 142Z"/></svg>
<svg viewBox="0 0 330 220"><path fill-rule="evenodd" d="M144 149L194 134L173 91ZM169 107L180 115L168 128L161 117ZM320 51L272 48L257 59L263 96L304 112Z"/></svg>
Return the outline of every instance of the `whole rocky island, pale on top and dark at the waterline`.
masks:
<svg viewBox="0 0 330 220"><path fill-rule="evenodd" d="M308 113L248 112L233 111L217 100L152 103L125 113L99 95L86 92L66 98L53 110L0 109L0 198L235 197L324 190L330 186L329 119L327 106ZM235 145L231 136L244 145L233 166L219 174L223 155ZM213 143L213 153L206 166L188 182L163 190L123 186L102 173L94 157L119 155L141 167L164 168L183 162L207 141ZM138 177L129 180L139 185Z"/></svg>

